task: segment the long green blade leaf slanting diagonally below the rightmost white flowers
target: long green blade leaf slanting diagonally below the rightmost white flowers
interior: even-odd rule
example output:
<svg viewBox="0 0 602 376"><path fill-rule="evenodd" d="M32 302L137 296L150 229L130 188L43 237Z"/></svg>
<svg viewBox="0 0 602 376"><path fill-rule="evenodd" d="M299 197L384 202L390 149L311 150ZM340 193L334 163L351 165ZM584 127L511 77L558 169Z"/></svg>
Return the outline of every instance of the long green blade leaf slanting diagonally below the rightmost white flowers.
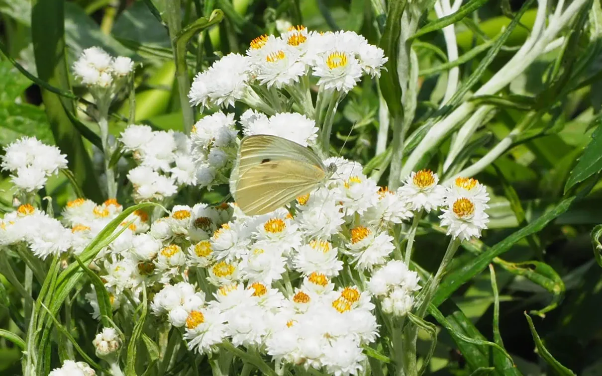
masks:
<svg viewBox="0 0 602 376"><path fill-rule="evenodd" d="M527 224L527 226L518 230L517 232L512 233L512 235L508 236L501 242L498 242L493 247L489 248L479 256L475 257L471 262L464 265L458 270L450 273L441 283L439 289L435 292L435 297L433 298L433 304L438 306L445 299L450 297L456 289L462 286L465 282L472 279L477 274L481 273L487 265L489 265L492 260L499 256L500 254L506 252L512 247L516 242L524 239L526 236L529 236L533 233L539 232L544 229L550 221L554 218L558 217L560 214L565 212L571 203L576 199L575 196L567 197L559 202L553 209L542 214L539 218Z"/></svg>

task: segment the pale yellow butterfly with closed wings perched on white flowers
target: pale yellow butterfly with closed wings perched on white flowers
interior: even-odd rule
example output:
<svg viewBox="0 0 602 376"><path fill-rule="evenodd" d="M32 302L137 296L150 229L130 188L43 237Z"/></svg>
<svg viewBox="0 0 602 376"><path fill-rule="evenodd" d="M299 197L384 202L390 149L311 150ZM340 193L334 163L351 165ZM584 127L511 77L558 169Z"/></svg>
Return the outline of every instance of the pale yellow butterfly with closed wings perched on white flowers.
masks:
<svg viewBox="0 0 602 376"><path fill-rule="evenodd" d="M324 166L309 147L273 135L244 137L230 176L230 193L246 215L265 214L329 179L337 170Z"/></svg>

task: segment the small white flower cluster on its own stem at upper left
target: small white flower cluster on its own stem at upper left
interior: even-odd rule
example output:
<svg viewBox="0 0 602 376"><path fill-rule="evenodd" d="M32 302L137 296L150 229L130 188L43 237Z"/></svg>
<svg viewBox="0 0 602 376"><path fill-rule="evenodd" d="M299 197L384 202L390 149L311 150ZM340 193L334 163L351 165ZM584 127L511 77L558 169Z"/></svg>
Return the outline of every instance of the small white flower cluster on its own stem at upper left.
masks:
<svg viewBox="0 0 602 376"><path fill-rule="evenodd" d="M129 75L133 69L134 61L131 58L112 57L99 47L84 49L78 60L73 63L73 74L90 88L110 88L114 82Z"/></svg>

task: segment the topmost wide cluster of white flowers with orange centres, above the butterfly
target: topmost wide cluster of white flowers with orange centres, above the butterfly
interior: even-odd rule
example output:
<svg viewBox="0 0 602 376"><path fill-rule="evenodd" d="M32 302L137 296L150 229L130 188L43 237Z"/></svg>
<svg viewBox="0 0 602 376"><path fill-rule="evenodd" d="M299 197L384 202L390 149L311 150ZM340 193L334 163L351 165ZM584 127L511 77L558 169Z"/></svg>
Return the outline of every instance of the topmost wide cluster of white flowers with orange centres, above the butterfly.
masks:
<svg viewBox="0 0 602 376"><path fill-rule="evenodd" d="M229 54L194 78L190 102L202 107L261 102L262 85L296 93L309 75L325 90L347 93L362 75L380 76L387 58L353 31L309 32L291 26L279 37L261 35L246 55Z"/></svg>

